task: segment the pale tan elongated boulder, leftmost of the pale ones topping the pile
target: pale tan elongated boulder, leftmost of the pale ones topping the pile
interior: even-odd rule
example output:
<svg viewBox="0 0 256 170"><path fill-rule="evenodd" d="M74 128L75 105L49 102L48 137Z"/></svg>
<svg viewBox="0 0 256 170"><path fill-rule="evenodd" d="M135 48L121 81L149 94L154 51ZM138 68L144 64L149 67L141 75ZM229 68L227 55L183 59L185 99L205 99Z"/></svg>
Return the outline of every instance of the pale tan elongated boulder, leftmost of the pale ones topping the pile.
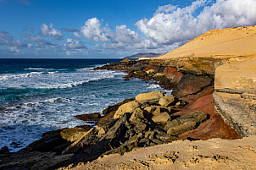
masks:
<svg viewBox="0 0 256 170"><path fill-rule="evenodd" d="M130 101L121 105L114 114L115 118L120 118L125 112L134 112L136 108L140 107L139 103L136 101Z"/></svg>

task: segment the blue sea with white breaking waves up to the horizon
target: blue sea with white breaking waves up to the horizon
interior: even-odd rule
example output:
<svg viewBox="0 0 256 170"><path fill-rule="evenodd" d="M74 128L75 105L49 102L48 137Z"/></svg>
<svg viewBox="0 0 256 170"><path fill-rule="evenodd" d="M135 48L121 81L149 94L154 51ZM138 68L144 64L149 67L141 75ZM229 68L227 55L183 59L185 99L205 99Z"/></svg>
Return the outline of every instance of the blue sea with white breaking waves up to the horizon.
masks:
<svg viewBox="0 0 256 170"><path fill-rule="evenodd" d="M102 112L140 93L164 90L125 81L125 72L93 70L120 59L0 59L0 149L19 151L42 134L86 124L75 115Z"/></svg>

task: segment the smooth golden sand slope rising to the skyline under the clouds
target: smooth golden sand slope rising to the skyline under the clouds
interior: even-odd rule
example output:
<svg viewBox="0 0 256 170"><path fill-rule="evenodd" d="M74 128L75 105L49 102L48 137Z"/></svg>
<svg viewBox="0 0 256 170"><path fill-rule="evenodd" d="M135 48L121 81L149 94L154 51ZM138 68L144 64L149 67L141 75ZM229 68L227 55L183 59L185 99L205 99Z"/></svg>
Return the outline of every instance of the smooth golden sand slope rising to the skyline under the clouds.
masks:
<svg viewBox="0 0 256 170"><path fill-rule="evenodd" d="M256 26L209 30L158 59L256 55Z"/></svg>

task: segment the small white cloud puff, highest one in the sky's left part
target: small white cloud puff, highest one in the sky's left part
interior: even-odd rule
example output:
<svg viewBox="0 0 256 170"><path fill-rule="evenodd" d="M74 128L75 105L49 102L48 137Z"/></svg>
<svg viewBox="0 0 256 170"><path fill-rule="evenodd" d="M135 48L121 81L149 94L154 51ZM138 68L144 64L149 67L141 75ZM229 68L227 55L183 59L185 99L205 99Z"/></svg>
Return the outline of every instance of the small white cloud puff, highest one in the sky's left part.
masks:
<svg viewBox="0 0 256 170"><path fill-rule="evenodd" d="M61 40L64 37L64 35L59 30L53 29L52 23L50 24L50 26L46 24L42 24L40 30L41 30L42 36L49 36L55 40Z"/></svg>

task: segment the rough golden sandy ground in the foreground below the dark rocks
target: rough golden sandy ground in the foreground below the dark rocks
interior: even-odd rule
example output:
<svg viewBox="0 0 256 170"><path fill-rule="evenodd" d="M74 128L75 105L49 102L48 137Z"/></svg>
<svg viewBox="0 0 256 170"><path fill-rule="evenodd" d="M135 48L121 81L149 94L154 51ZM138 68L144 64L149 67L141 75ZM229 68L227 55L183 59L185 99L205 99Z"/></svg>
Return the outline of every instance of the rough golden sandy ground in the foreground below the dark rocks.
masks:
<svg viewBox="0 0 256 170"><path fill-rule="evenodd" d="M71 169L256 169L256 136L241 140L175 141L103 156ZM68 169L70 169L68 168Z"/></svg>

